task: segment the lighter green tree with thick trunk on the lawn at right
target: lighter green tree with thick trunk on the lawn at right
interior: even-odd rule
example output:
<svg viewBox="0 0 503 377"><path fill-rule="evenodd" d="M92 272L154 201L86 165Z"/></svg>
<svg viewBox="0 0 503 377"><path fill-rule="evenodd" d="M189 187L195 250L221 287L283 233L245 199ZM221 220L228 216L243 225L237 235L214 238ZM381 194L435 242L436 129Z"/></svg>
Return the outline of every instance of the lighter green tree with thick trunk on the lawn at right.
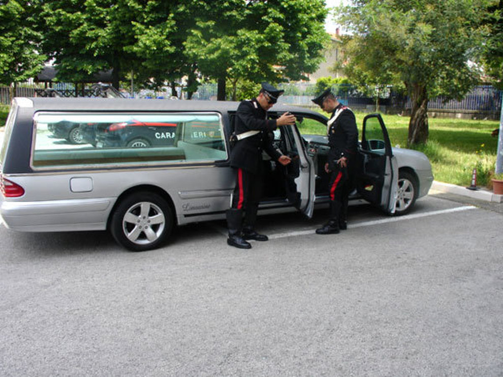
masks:
<svg viewBox="0 0 503 377"><path fill-rule="evenodd" d="M357 0L338 9L353 33L347 74L404 83L412 99L408 143L428 139L428 100L460 99L477 82L482 0Z"/></svg>

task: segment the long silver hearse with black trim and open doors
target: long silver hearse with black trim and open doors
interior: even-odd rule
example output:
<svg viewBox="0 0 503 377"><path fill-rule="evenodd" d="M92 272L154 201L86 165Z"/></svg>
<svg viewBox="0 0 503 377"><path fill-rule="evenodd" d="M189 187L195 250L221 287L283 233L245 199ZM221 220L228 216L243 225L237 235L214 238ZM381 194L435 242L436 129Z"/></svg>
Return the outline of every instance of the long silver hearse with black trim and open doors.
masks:
<svg viewBox="0 0 503 377"><path fill-rule="evenodd" d="M229 135L236 102L133 99L16 98L0 154L1 215L23 232L110 230L135 251L159 247L175 226L225 218L234 187ZM326 129L317 112L290 111L292 126L274 133L292 157L283 167L264 155L259 213L299 210L307 217L328 202ZM96 140L72 143L50 130L73 123ZM89 133L88 133L89 134ZM379 114L365 117L357 190L390 214L408 212L433 176L423 153L392 148Z"/></svg>

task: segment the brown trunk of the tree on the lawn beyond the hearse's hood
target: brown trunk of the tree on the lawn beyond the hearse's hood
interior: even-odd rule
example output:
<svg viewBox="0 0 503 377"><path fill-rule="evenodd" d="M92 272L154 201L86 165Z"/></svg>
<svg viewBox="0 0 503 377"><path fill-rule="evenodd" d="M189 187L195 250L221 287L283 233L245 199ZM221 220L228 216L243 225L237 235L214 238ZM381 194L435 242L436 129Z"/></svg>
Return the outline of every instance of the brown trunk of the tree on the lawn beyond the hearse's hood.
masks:
<svg viewBox="0 0 503 377"><path fill-rule="evenodd" d="M415 84L412 92L412 113L408 123L407 144L428 141L428 95L426 86Z"/></svg>

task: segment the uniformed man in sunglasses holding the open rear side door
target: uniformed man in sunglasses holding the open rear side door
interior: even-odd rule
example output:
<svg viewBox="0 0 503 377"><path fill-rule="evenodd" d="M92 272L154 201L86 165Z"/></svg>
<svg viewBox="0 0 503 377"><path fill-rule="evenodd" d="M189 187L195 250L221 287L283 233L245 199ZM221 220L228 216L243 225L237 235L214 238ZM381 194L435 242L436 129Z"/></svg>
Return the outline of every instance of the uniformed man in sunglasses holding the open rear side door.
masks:
<svg viewBox="0 0 503 377"><path fill-rule="evenodd" d="M231 166L236 172L236 187L231 208L227 211L227 244L231 246L250 248L251 245L246 240L268 240L266 235L255 231L263 184L262 150L281 165L288 165L291 159L274 149L269 133L277 126L295 124L295 116L290 113L284 113L277 119L267 118L267 110L276 103L282 93L283 90L264 82L257 98L242 101L238 106L234 124L238 141L231 152Z"/></svg>

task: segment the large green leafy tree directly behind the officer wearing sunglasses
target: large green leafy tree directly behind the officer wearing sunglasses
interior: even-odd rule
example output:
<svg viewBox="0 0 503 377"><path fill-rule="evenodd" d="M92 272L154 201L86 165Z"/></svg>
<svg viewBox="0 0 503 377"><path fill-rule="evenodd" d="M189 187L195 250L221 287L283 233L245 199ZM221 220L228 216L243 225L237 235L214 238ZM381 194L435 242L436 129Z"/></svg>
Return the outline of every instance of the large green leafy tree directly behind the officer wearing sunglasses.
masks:
<svg viewBox="0 0 503 377"><path fill-rule="evenodd" d="M219 100L227 80L294 80L316 70L328 36L323 0L194 0L196 25L185 42L203 75L217 79ZM235 99L235 96L233 96Z"/></svg>

